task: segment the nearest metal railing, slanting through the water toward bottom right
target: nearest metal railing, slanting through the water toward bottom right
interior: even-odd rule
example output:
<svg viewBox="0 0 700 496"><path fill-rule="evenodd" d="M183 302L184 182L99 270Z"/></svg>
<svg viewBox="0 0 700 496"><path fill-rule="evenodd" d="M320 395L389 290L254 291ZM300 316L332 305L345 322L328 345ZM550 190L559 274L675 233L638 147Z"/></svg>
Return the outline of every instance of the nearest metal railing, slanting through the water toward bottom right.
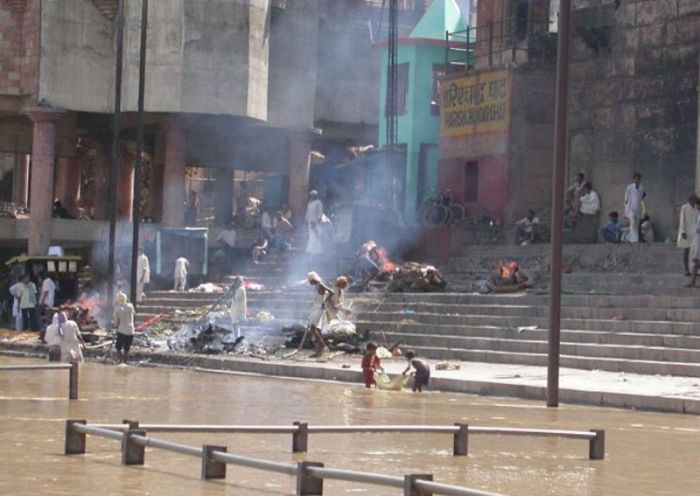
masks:
<svg viewBox="0 0 700 496"><path fill-rule="evenodd" d="M201 478L204 480L224 479L226 477L227 464L296 476L295 494L297 496L322 496L323 481L326 479L403 488L404 496L425 496L432 494L500 496L496 493L436 483L433 482L432 474L407 474L401 477L372 472L326 468L323 463L318 462L304 461L297 464L289 464L232 455L227 452L226 446L205 444L200 448L147 437L146 430L143 428L145 425L139 426L138 422L126 420L124 422L124 424L118 424L119 429L116 429L113 425L98 427L97 425L88 425L85 420L67 420L64 453L66 455L85 454L86 437L92 435L121 441L121 461L123 465L143 465L145 462L145 448L158 448L200 458ZM174 426L167 427L172 428ZM241 426L231 427L240 428ZM168 432L174 431L170 430ZM259 432L259 430L256 432ZM279 432L279 430L276 429L275 432Z"/></svg>

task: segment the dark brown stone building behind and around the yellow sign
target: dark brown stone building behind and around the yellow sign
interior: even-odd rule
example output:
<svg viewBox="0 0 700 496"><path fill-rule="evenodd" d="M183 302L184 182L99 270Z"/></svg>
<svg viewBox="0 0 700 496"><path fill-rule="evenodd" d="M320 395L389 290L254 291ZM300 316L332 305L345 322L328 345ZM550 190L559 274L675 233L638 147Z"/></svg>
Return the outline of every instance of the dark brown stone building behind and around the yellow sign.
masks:
<svg viewBox="0 0 700 496"><path fill-rule="evenodd" d="M461 137L445 136L443 128L441 184L466 188L461 198L468 210L495 211L508 222L527 208L549 217L554 66L534 59L555 53L557 15L558 2L550 0L478 3L470 46L477 57L469 72L510 73L511 120L500 141L488 127ZM573 0L571 21L568 180L586 173L601 198L602 220L610 210L622 211L625 187L640 172L657 238L673 238L679 207L700 188L700 2ZM469 177L478 184L469 185Z"/></svg>

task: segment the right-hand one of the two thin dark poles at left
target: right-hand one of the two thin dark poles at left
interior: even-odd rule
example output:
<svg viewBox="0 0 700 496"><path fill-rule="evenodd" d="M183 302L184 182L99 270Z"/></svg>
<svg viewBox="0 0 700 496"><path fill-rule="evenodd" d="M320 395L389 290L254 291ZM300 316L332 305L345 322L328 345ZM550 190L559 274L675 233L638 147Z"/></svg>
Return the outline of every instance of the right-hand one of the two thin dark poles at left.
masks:
<svg viewBox="0 0 700 496"><path fill-rule="evenodd" d="M137 294L139 227L141 225L141 175L143 170L143 102L146 89L146 40L148 31L148 0L141 0L141 54L139 57L139 103L136 136L136 163L134 164L133 233L131 237L131 301L136 305L141 295Z"/></svg>

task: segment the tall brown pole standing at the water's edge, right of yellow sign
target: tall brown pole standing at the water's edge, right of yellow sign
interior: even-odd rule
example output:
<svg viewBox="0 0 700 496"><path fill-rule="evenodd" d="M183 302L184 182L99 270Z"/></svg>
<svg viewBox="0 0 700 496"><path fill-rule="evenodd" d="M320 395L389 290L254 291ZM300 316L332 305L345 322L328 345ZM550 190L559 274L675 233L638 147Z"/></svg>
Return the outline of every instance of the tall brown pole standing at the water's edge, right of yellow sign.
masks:
<svg viewBox="0 0 700 496"><path fill-rule="evenodd" d="M557 87L552 170L552 253L549 281L549 352L547 406L559 406L559 355L561 340L561 267L564 238L564 170L566 166L566 110L569 85L569 21L571 0L561 0L557 51Z"/></svg>

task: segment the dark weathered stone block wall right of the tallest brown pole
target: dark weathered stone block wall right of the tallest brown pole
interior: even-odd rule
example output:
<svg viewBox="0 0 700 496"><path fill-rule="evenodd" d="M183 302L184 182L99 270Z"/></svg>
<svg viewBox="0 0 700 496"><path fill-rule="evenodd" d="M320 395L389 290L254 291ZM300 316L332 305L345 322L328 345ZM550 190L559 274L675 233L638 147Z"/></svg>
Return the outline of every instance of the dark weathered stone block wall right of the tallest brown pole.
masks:
<svg viewBox="0 0 700 496"><path fill-rule="evenodd" d="M700 2L577 0L572 22L569 178L586 171L605 213L640 172L657 234L673 237L694 188Z"/></svg>

